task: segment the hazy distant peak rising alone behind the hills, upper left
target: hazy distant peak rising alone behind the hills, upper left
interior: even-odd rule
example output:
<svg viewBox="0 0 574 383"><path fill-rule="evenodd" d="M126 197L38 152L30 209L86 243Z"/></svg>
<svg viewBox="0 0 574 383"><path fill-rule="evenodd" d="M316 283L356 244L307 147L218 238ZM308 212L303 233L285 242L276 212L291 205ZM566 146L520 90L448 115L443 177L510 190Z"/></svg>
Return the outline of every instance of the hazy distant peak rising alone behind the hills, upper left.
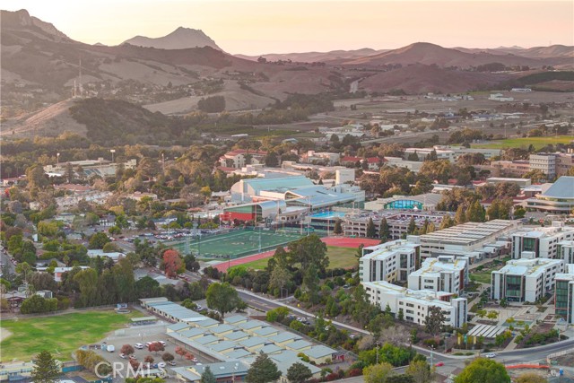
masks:
<svg viewBox="0 0 574 383"><path fill-rule="evenodd" d="M192 30L191 28L179 27L169 35L161 38L147 38L135 36L132 39L126 39L122 44L135 45L136 47L158 48L158 49L187 49L187 48L219 48L213 39L210 39L203 30Z"/></svg>

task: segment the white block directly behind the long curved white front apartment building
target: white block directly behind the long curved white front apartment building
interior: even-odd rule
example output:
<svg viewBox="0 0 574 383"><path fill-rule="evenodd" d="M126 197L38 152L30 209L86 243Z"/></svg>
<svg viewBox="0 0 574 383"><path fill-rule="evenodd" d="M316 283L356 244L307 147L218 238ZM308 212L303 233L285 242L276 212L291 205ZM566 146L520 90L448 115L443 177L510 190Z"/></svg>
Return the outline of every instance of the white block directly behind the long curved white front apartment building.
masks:
<svg viewBox="0 0 574 383"><path fill-rule="evenodd" d="M467 281L468 260L465 257L439 256L425 259L420 269L409 274L408 287L460 295Z"/></svg>

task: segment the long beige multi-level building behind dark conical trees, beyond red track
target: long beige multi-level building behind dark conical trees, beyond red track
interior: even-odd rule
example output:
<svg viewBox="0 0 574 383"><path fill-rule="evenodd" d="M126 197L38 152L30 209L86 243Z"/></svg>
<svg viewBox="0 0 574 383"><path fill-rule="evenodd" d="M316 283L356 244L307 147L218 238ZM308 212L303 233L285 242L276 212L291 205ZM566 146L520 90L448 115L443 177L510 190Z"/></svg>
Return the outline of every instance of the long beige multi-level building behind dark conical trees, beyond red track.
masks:
<svg viewBox="0 0 574 383"><path fill-rule="evenodd" d="M365 205L367 204L370 203ZM388 226L387 239L402 239L408 232L411 220L414 220L417 228L422 228L424 222L432 223L435 228L438 228L446 214L448 213L422 210L382 210L377 213L352 213L345 215L343 231L345 237L367 237L367 226L369 225L369 220L372 220L375 226L375 237L380 238L380 225L383 218L385 218Z"/></svg>

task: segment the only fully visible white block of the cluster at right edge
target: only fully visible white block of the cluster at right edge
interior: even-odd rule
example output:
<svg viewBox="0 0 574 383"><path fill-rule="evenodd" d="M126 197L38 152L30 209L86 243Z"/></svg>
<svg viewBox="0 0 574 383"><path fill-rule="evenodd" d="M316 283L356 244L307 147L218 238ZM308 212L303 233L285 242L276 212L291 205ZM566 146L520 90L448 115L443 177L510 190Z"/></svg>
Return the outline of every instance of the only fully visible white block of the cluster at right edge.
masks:
<svg viewBox="0 0 574 383"><path fill-rule="evenodd" d="M491 274L491 298L535 302L554 290L556 274L564 272L561 259L512 259Z"/></svg>

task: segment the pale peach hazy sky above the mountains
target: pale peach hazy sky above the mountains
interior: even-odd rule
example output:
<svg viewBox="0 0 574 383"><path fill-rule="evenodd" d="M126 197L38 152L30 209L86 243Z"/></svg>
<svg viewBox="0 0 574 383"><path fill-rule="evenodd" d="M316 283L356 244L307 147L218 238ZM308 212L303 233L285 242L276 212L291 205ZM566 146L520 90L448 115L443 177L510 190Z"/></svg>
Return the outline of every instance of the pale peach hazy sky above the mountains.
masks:
<svg viewBox="0 0 574 383"><path fill-rule="evenodd" d="M574 45L574 2L517 0L4 0L72 39L117 45L179 26L225 51L257 55L357 48Z"/></svg>

